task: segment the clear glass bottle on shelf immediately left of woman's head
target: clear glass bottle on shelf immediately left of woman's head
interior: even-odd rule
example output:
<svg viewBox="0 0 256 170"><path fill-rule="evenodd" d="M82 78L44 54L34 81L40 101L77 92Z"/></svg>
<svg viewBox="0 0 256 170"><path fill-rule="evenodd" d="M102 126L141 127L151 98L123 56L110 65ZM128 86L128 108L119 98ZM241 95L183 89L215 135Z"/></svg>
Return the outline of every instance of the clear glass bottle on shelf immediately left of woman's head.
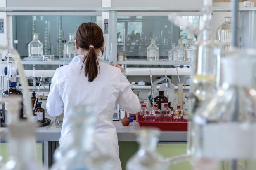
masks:
<svg viewBox="0 0 256 170"><path fill-rule="evenodd" d="M69 33L69 41L64 44L64 58L74 58L75 56L75 34Z"/></svg>

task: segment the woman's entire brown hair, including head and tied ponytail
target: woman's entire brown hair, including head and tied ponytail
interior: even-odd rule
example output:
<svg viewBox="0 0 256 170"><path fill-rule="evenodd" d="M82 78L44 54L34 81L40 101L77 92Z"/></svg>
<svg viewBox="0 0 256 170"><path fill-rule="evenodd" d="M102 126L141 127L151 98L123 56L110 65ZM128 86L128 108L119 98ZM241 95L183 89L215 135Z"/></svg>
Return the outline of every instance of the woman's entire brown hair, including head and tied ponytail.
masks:
<svg viewBox="0 0 256 170"><path fill-rule="evenodd" d="M88 50L88 54L83 58L85 65L85 76L92 82L100 72L100 65L95 49L102 47L104 37L101 28L96 23L82 23L76 32L76 44L78 47ZM90 46L93 46L90 48Z"/></svg>

